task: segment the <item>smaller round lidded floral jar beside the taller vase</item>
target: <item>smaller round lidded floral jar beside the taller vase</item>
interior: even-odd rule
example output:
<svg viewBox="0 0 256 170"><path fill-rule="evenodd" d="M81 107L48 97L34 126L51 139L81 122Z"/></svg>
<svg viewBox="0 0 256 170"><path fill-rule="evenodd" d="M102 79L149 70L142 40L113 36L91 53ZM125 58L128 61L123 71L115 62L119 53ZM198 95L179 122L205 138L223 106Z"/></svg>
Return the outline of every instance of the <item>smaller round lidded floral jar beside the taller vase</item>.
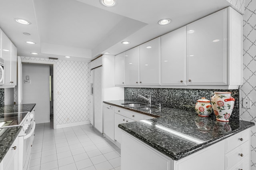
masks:
<svg viewBox="0 0 256 170"><path fill-rule="evenodd" d="M211 101L205 99L205 97L197 100L195 110L198 116L208 117L212 113L212 105L210 102Z"/></svg>

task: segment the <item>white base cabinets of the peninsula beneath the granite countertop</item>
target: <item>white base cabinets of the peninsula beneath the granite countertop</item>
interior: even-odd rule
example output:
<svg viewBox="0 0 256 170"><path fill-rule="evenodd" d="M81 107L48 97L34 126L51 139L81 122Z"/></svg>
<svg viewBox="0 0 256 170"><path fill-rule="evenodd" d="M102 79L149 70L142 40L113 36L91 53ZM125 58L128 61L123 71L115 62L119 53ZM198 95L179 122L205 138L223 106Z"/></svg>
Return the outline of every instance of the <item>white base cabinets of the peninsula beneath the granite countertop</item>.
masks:
<svg viewBox="0 0 256 170"><path fill-rule="evenodd" d="M121 167L122 170L249 170L249 132L250 128L175 161L122 131ZM236 140L240 144L226 152L227 144Z"/></svg>

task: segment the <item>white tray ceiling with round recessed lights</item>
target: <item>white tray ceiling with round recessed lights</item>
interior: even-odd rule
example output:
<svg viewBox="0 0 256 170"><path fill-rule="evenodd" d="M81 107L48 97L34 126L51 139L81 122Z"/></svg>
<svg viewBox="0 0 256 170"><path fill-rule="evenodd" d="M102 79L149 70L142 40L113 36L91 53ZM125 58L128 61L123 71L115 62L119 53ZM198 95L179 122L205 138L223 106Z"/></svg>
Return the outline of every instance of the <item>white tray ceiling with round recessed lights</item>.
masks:
<svg viewBox="0 0 256 170"><path fill-rule="evenodd" d="M226 0L116 0L114 7L103 6L100 0L1 0L0 28L20 56L69 55L66 60L90 61L106 51L126 51L227 6ZM14 18L32 24L18 24ZM158 25L162 18L172 23ZM131 43L121 44L124 40Z"/></svg>

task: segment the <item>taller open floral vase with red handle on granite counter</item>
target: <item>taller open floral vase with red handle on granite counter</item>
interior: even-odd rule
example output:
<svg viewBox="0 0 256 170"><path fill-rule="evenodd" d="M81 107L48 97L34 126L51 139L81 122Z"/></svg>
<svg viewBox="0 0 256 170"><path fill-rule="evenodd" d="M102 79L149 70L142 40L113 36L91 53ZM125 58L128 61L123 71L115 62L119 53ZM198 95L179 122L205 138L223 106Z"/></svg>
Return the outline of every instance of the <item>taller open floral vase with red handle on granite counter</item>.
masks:
<svg viewBox="0 0 256 170"><path fill-rule="evenodd" d="M233 111L235 99L231 92L214 92L212 109L218 121L228 122Z"/></svg>

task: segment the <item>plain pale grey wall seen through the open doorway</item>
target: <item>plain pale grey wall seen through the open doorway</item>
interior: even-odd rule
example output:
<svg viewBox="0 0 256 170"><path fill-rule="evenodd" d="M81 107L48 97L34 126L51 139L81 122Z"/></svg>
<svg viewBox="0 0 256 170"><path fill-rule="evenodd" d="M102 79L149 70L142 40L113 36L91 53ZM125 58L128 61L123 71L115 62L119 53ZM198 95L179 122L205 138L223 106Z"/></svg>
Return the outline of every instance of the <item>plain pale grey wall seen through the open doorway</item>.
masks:
<svg viewBox="0 0 256 170"><path fill-rule="evenodd" d="M30 84L24 83L29 76ZM22 104L36 103L35 122L50 122L50 66L22 63Z"/></svg>

